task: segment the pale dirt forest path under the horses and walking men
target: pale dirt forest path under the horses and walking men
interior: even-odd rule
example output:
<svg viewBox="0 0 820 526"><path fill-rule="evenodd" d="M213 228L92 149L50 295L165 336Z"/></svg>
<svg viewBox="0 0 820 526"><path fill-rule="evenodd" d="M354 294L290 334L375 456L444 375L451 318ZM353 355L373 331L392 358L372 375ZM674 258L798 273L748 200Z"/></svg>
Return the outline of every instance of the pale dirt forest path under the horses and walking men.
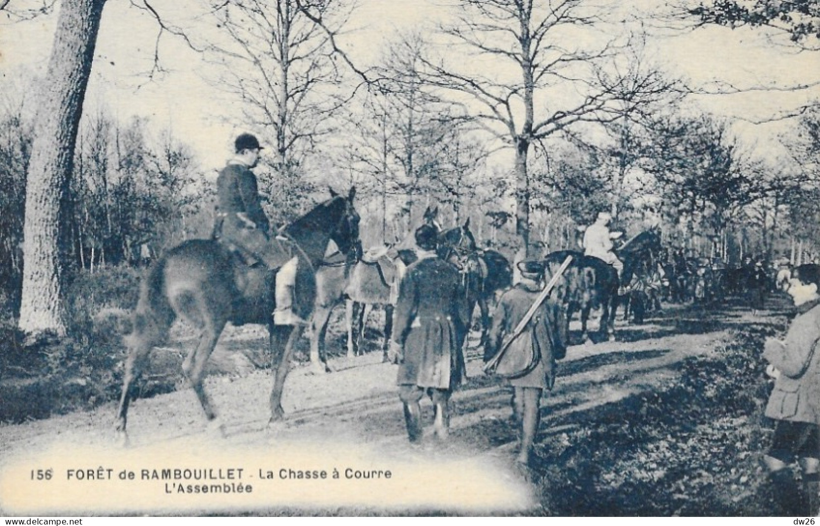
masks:
<svg viewBox="0 0 820 526"><path fill-rule="evenodd" d="M771 315L771 312L763 315ZM671 306L647 324L619 322L617 342L573 345L559 364L553 392L542 400L540 440L547 437L560 440L561 433L576 425L554 424L559 419L566 420L567 415L581 415L636 393L663 388L676 379L683 360L708 356L731 338L732 329L742 330L746 324L759 320L743 307L704 311L693 306ZM218 353L224 354L241 345L243 343L231 341L229 336L221 343ZM207 391L212 394L216 410L225 423L226 438L216 438L209 432L190 388L135 401L129 415L128 455L148 459L157 455L157 449L185 451L196 456L198 451L203 455L212 455L212 451L274 451L276 447L289 445L344 462L346 455L360 458L358 453L350 451L367 451L362 455L370 459L368 462L379 464L380 461L381 465L476 461L482 466L494 466L497 473L494 477L499 483L517 487L522 479L511 467L516 443L515 430L509 423L510 393L495 379L481 374L480 355L481 349L471 348L467 352L468 381L453 396L452 437L446 443L427 436L421 447L409 445L394 385L396 366L381 363L380 352L371 352L353 359L332 359L330 365L335 370L332 374L310 374L306 366L292 370L283 400L286 419L272 430L266 430L267 395L271 388L269 371L207 380ZM112 447L115 410L113 404L107 404L93 411L0 426L0 470L9 465L29 465L35 460L27 459L37 459L45 451L50 455L53 451L66 451L71 456L71 451L79 448L77 451L107 451L107 455L116 458L116 447ZM422 402L422 410L429 427L432 420L429 401ZM294 450L287 451L290 453L282 455ZM301 457L294 454L290 458ZM89 465L103 464L102 460L96 460L92 456L84 461ZM83 461L78 460L77 464L83 465ZM306 498L302 505L315 498L324 506L320 497ZM297 508L301 506L298 499L285 502ZM443 502L444 505L438 501L422 502L418 506L447 509L446 498ZM531 501L522 502L508 502L501 507L521 511L533 506ZM335 506L332 500L328 506ZM371 510L378 508L378 503L364 499L356 506ZM358 508L354 506L354 509ZM462 508L454 506L453 509ZM123 508L123 512L127 513L128 509Z"/></svg>

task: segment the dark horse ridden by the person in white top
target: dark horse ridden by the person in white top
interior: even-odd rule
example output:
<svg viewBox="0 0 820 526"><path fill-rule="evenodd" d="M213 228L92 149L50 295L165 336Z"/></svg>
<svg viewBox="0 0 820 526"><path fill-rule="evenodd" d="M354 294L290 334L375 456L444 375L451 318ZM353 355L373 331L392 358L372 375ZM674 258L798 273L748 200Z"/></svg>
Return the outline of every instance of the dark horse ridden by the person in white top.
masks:
<svg viewBox="0 0 820 526"><path fill-rule="evenodd" d="M649 229L631 238L617 250L623 262L622 282L631 283L636 272L647 268L645 261L655 261L661 250L660 232ZM615 339L615 314L619 302L619 281L617 270L594 256L582 252L562 250L551 252L545 258L547 274L552 274L558 266L572 256L572 265L565 273L567 286L563 287L563 302L567 306L567 324L575 311L581 311L581 335L589 341L586 324L593 308L601 308L600 333L605 333L610 341Z"/></svg>

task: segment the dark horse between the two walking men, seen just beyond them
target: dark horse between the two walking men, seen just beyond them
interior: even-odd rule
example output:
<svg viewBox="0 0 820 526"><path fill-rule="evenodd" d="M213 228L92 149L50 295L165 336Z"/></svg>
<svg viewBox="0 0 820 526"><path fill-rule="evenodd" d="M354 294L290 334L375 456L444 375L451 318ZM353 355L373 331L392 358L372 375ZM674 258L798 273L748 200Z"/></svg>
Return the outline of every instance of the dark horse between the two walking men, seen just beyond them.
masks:
<svg viewBox="0 0 820 526"><path fill-rule="evenodd" d="M458 268L467 294L470 314L476 304L481 310L481 342L486 343L490 329L490 299L496 291L512 285L512 265L500 252L478 250L470 231L470 220L462 226L439 234L439 256Z"/></svg>

